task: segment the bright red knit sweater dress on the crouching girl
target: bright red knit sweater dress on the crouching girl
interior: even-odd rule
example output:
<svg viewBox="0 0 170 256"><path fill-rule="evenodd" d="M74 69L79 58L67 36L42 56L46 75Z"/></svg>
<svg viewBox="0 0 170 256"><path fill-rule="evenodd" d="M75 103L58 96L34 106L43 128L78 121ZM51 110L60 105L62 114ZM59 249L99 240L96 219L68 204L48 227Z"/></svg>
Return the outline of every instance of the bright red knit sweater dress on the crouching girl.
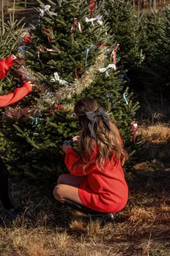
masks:
<svg viewBox="0 0 170 256"><path fill-rule="evenodd" d="M84 160L76 166L79 156L72 149L67 149L65 164L70 173L76 176L85 176L79 186L79 197L82 203L93 210L105 213L115 213L122 210L128 201L128 185L120 164L116 167L112 162L104 163L104 170L95 166L97 146L91 156L88 167L83 171L83 165L88 160L87 153L84 152ZM114 162L114 159L113 159ZM86 175L85 175L86 174Z"/></svg>

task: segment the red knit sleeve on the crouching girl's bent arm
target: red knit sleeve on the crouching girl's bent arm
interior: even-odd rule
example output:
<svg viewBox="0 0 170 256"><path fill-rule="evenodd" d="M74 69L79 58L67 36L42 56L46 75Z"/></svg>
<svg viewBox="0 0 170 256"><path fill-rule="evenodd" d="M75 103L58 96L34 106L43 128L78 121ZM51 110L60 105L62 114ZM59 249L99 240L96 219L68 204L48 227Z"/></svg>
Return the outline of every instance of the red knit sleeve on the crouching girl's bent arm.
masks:
<svg viewBox="0 0 170 256"><path fill-rule="evenodd" d="M73 164L75 164L75 162L77 162L79 160L79 156L72 149L67 149L66 157L65 157L65 164L66 164L67 169L70 171L70 173L72 173L76 176L84 176L84 175L90 173L92 170L94 170L94 168L97 168L97 167L95 167L95 162L92 161L88 164L88 167L85 168L85 173L84 173L83 166L87 160L86 153L84 153L84 158L85 159L82 162L80 162L78 165L73 166Z"/></svg>

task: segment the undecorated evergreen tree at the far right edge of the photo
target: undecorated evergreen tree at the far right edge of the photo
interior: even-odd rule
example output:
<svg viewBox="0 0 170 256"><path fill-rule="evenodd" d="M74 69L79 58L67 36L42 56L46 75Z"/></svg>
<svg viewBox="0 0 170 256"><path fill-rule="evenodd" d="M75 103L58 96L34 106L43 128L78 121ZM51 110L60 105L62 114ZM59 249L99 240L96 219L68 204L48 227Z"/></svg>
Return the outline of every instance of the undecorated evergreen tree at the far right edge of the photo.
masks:
<svg viewBox="0 0 170 256"><path fill-rule="evenodd" d="M140 94L141 115L168 119L169 99L169 7L151 11L143 19L143 65L137 73L137 92ZM162 114L161 114L162 113ZM155 115L156 114L156 115Z"/></svg>

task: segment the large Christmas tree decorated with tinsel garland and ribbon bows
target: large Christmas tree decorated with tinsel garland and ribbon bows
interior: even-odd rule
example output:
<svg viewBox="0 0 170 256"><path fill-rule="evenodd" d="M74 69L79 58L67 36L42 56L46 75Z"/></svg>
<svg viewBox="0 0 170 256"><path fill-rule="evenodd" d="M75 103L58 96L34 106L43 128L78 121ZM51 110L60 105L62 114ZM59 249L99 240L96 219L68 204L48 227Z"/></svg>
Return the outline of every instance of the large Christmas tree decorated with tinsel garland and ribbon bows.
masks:
<svg viewBox="0 0 170 256"><path fill-rule="evenodd" d="M106 32L100 8L94 1L48 2L39 1L39 22L18 48L18 73L35 88L16 108L6 108L3 127L13 141L13 167L41 184L47 179L52 184L63 171L61 145L79 132L73 114L76 100L98 100L126 145L138 109L116 69L118 45Z"/></svg>

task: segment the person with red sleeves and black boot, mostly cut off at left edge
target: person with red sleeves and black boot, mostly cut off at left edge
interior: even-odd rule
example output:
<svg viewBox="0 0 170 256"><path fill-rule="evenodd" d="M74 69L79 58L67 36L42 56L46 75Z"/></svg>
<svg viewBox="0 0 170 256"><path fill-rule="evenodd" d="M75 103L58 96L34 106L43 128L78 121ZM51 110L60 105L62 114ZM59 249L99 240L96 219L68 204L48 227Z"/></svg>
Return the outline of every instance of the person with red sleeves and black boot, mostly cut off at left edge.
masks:
<svg viewBox="0 0 170 256"><path fill-rule="evenodd" d="M7 59L0 60L0 79L4 79L7 76L8 71L14 65L16 56L11 55ZM7 95L0 96L0 107L5 107L10 104L16 103L21 98L25 97L32 91L31 82L24 83L23 87L17 88L15 92ZM4 162L0 157L0 200L3 204L3 216L7 216L9 219L15 219L18 215L21 215L20 210L16 209L11 204L8 195L8 170ZM0 219L1 221L1 219Z"/></svg>

